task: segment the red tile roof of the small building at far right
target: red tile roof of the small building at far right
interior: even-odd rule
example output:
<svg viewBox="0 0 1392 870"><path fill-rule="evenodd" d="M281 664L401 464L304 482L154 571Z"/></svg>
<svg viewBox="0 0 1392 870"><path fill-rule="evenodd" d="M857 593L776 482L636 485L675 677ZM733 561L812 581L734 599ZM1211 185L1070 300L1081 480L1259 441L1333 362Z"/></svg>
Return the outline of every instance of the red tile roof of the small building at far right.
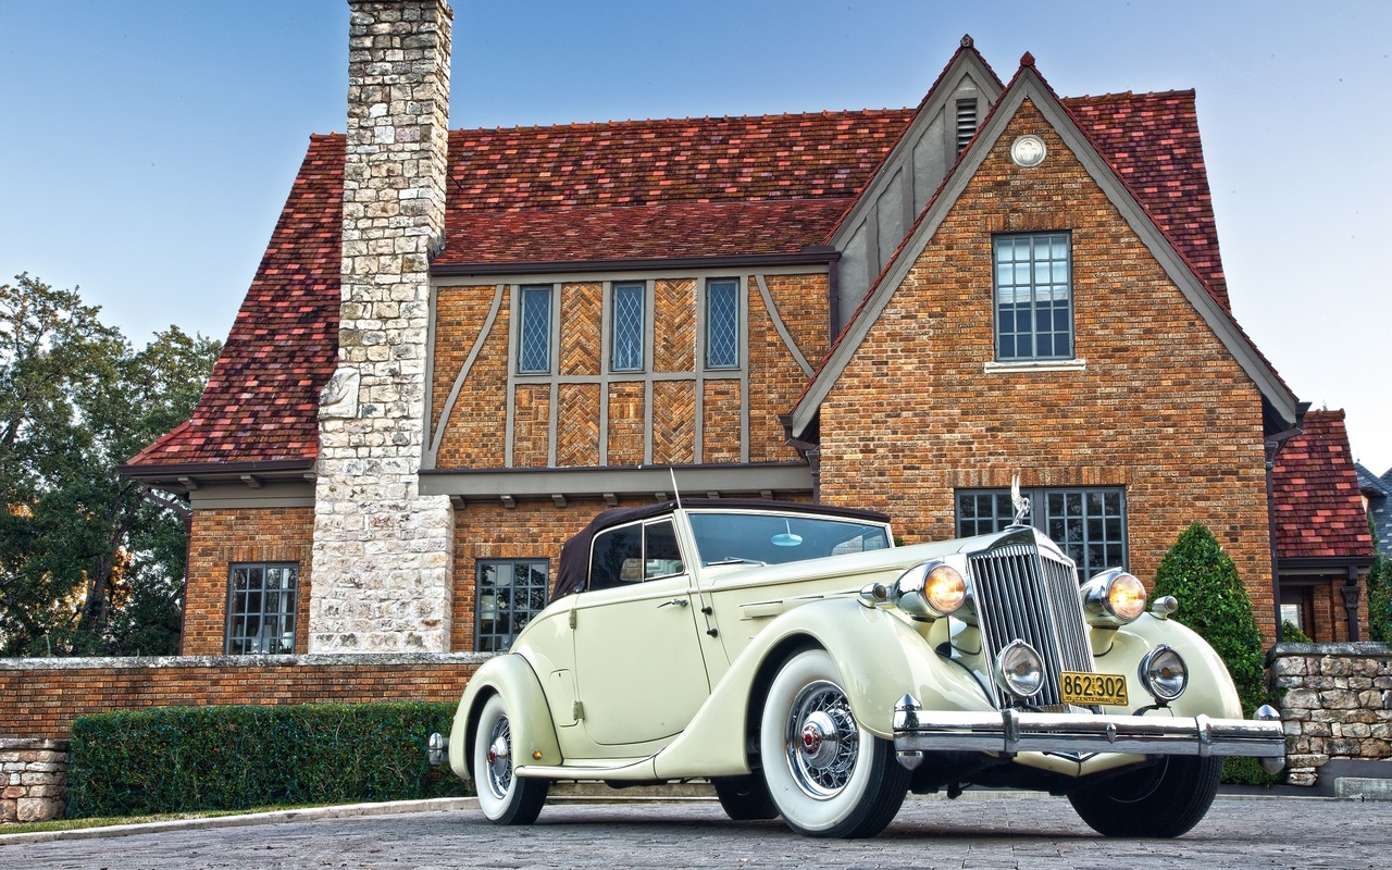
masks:
<svg viewBox="0 0 1392 870"><path fill-rule="evenodd" d="M1304 433L1271 469L1278 558L1349 558L1373 553L1359 475L1342 411L1311 411Z"/></svg>

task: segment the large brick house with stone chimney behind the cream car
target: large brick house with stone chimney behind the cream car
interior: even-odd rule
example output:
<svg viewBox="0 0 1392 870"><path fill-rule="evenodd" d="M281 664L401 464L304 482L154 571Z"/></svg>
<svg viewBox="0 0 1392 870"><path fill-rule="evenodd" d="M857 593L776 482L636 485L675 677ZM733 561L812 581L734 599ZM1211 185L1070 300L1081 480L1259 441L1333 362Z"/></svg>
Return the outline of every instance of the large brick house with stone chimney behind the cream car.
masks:
<svg viewBox="0 0 1392 870"><path fill-rule="evenodd" d="M969 38L903 110L445 128L444 0L352 0L193 416L184 654L490 651L606 505L1034 522L1153 575L1207 523L1275 629L1300 406L1232 316L1193 92L1058 97Z"/></svg>

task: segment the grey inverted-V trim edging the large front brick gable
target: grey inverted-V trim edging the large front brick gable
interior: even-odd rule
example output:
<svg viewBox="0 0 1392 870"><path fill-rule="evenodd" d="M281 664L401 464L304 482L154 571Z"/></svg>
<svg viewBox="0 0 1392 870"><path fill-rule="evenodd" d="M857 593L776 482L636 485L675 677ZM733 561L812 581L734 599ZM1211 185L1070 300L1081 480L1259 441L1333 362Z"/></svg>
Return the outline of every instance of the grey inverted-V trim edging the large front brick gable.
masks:
<svg viewBox="0 0 1392 870"><path fill-rule="evenodd" d="M1022 58L1022 64L1019 72L1016 72L995 103L991 114L981 124L976 139L962 152L937 193L923 212L919 213L917 220L901 242L898 251L895 251L894 258L884 267L876 285L860 303L855 317L842 330L825 361L823 361L821 369L798 400L789 415L792 436L803 437L810 430L823 400L831 393L841 373L874 327L876 320L894 296L894 291L908 277L919 256L947 219L954 203L966 189L967 184L970 184L991 148L1004 135L1006 125L1026 100L1043 114L1044 120L1079 159L1089 177L1091 177L1107 199L1118 209L1122 219L1136 232L1151 256L1155 258L1169 280L1194 306L1228 352L1232 354L1251 377L1267 402L1285 420L1295 420L1295 394L1290 393L1289 387L1285 386L1271 365L1257 351L1251 340L1247 338L1232 319L1225 303L1219 302L1210 291L1193 263L1165 234L1141 198L1128 185L1102 153L1098 152L1094 142L1079 127L1073 114L1034 70L1033 58L1026 54ZM1214 244L1214 256L1217 258L1217 244Z"/></svg>

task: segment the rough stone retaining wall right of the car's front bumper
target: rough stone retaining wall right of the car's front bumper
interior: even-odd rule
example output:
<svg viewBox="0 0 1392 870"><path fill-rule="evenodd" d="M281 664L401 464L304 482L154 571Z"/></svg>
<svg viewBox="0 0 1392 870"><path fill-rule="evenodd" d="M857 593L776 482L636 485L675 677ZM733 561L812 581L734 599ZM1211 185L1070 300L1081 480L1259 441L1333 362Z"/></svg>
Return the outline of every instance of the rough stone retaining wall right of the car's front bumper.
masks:
<svg viewBox="0 0 1392 870"><path fill-rule="evenodd" d="M1288 784L1315 785L1331 760L1392 759L1392 647L1279 643L1267 667L1283 693Z"/></svg>

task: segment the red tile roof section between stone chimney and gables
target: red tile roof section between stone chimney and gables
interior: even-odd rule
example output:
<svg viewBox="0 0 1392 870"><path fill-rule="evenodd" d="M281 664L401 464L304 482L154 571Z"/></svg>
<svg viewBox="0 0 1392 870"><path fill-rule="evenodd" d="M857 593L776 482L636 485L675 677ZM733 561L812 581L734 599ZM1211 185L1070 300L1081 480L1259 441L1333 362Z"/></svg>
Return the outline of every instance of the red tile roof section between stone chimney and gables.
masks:
<svg viewBox="0 0 1392 870"><path fill-rule="evenodd" d="M913 111L450 134L438 266L795 253L823 241Z"/></svg>

